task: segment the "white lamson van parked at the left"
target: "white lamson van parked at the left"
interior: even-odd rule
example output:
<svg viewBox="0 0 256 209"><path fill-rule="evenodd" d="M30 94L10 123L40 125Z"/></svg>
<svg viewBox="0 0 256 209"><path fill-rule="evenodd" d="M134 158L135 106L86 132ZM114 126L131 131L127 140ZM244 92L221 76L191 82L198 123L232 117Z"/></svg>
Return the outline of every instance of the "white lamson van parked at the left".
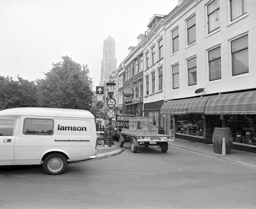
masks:
<svg viewBox="0 0 256 209"><path fill-rule="evenodd" d="M43 164L60 174L68 163L96 157L96 125L89 111L20 107L0 111L0 166Z"/></svg>

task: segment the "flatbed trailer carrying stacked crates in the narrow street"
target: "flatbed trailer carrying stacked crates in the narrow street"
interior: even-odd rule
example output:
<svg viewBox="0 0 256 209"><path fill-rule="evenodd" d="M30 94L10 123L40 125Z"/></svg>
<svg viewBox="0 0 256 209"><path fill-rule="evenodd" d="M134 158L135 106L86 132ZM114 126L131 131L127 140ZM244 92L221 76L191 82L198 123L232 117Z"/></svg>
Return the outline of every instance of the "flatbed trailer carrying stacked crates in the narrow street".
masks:
<svg viewBox="0 0 256 209"><path fill-rule="evenodd" d="M130 148L133 153L137 153L137 148L142 146L158 146L163 153L166 153L168 141L174 141L174 137L165 134L138 134L136 130L130 130L129 133L119 132L119 146L123 147L125 141L130 141Z"/></svg>

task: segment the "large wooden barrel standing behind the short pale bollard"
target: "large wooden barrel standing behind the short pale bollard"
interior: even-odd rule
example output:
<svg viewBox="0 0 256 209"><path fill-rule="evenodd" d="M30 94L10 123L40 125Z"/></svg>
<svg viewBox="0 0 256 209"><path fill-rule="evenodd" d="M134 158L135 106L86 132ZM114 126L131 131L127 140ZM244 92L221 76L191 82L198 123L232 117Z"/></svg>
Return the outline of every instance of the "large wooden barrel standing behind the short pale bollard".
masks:
<svg viewBox="0 0 256 209"><path fill-rule="evenodd" d="M215 127L213 132L213 151L222 154L223 138L225 138L226 154L230 154L233 137L230 127Z"/></svg>

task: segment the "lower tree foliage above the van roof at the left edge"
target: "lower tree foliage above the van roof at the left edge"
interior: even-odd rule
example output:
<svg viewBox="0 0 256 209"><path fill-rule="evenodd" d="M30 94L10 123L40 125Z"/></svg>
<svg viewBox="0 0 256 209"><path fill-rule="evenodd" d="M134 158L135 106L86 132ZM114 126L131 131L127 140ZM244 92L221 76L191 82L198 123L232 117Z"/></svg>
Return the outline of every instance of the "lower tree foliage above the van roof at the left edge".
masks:
<svg viewBox="0 0 256 209"><path fill-rule="evenodd" d="M18 77L13 81L0 76L0 109L13 107L37 107L37 87L34 82Z"/></svg>

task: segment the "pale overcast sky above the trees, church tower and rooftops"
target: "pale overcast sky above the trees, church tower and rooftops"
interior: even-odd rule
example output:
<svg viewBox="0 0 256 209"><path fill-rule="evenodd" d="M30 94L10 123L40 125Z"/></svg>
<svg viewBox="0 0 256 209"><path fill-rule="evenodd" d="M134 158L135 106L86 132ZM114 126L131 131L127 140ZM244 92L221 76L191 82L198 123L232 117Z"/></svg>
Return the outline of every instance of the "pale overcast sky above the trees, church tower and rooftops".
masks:
<svg viewBox="0 0 256 209"><path fill-rule="evenodd" d="M116 41L119 66L137 46L154 14L168 15L178 0L0 0L0 75L44 79L69 56L100 82L103 42Z"/></svg>

